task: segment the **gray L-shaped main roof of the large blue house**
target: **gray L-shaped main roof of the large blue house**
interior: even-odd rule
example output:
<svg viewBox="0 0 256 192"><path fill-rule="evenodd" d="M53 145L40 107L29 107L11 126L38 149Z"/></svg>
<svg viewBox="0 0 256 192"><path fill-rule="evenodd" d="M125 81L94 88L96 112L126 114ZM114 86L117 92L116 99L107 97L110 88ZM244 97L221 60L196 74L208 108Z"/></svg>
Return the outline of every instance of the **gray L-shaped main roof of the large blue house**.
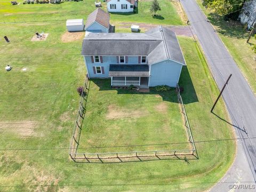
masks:
<svg viewBox="0 0 256 192"><path fill-rule="evenodd" d="M147 55L149 64L171 59L186 65L175 33L162 26L144 34L89 34L84 38L82 55Z"/></svg>

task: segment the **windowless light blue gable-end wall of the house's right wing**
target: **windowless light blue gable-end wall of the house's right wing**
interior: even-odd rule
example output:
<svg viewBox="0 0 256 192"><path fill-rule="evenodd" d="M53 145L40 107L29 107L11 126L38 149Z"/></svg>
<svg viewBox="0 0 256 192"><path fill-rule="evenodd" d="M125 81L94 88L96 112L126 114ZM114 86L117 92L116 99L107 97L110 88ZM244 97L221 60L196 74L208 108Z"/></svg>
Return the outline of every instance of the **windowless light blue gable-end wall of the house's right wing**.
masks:
<svg viewBox="0 0 256 192"><path fill-rule="evenodd" d="M175 87L179 82L182 65L165 60L151 65L149 86L169 85Z"/></svg>

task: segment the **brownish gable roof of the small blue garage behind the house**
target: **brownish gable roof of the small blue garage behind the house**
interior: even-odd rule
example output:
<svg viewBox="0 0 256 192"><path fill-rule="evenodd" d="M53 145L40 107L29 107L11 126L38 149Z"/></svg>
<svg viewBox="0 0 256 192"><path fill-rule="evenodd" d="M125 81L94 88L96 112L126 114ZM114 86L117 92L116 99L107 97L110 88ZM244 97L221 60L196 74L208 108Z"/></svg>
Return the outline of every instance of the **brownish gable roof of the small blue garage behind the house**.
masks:
<svg viewBox="0 0 256 192"><path fill-rule="evenodd" d="M107 29L109 28L109 13L103 11L100 8L95 9L91 14L89 14L86 24L85 24L85 29L92 25L93 22L98 22L100 25L103 27L106 27Z"/></svg>

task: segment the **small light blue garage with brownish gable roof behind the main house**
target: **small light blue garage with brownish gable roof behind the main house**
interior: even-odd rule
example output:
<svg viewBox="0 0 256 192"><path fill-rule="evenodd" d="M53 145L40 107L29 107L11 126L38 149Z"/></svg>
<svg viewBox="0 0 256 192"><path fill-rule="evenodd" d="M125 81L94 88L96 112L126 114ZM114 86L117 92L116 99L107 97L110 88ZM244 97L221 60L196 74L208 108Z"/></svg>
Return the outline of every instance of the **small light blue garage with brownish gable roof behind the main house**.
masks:
<svg viewBox="0 0 256 192"><path fill-rule="evenodd" d="M97 8L88 16L85 30L90 33L108 33L110 28L109 20L109 13Z"/></svg>

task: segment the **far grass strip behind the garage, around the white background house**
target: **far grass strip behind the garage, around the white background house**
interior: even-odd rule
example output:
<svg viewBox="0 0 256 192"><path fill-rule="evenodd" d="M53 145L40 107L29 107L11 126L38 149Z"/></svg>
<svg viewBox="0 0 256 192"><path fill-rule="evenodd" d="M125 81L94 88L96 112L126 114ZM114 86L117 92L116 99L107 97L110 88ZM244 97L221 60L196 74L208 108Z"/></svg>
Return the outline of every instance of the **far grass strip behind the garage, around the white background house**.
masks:
<svg viewBox="0 0 256 192"><path fill-rule="evenodd" d="M0 0L0 21L1 22L34 22L34 21L58 21L65 22L66 19L81 19L86 22L87 16L96 7L94 0L79 2L64 2L61 4L25 4L11 5L10 2ZM107 4L101 2L101 9L107 11ZM159 19L153 18L150 13L150 1L139 1L136 13L110 13L112 25L122 26L123 22L142 22L156 25L184 25L176 10L174 3L167 0L159 0L161 15ZM176 3L177 4L177 3ZM177 5L176 5L177 6Z"/></svg>

